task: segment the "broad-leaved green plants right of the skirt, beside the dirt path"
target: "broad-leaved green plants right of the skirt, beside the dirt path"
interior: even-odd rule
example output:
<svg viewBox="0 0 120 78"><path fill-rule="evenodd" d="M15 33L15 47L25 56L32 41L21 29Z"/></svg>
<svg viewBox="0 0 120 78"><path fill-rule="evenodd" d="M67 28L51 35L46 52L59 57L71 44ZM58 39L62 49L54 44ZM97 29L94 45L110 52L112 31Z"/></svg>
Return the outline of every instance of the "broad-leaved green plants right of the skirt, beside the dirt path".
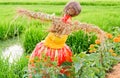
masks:
<svg viewBox="0 0 120 78"><path fill-rule="evenodd" d="M75 68L75 77L78 78L105 78L106 71L119 62L119 59L110 55L109 52L104 54L103 65L100 62L100 52L85 54L80 53L73 57L73 67Z"/></svg>

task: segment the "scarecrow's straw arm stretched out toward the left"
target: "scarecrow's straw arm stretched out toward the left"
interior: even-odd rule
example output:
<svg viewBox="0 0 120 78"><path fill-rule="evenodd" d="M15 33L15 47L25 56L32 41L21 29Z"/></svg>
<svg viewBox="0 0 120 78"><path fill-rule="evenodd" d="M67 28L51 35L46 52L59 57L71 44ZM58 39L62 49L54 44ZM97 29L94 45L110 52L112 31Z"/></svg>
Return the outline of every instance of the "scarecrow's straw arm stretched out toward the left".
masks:
<svg viewBox="0 0 120 78"><path fill-rule="evenodd" d="M25 15L34 19L40 19L43 21L52 21L53 19L56 19L58 17L55 17L54 14L46 14L46 13L42 13L42 12L32 12L29 10L25 10L25 9L19 9L18 14L20 15Z"/></svg>

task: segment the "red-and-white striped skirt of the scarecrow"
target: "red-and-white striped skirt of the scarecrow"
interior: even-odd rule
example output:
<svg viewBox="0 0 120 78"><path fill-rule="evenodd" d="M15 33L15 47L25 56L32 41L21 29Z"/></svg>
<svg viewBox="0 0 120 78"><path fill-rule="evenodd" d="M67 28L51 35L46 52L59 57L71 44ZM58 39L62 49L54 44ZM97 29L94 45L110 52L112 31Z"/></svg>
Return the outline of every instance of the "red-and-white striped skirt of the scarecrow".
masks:
<svg viewBox="0 0 120 78"><path fill-rule="evenodd" d="M38 57L41 58L42 54L49 56L51 61L54 61L57 58L57 64L60 66L64 62L72 62L72 52L70 48L65 45L63 48L54 49L44 45L44 42L40 42L35 47L31 58Z"/></svg>

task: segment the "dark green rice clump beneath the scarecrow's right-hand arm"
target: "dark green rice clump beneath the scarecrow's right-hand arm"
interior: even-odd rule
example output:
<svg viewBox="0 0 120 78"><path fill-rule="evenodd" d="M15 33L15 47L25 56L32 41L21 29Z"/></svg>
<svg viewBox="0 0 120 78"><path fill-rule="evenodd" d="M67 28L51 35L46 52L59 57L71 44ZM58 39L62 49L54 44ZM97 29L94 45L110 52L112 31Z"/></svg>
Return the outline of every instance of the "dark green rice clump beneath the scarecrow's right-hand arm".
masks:
<svg viewBox="0 0 120 78"><path fill-rule="evenodd" d="M74 53L88 51L89 45L95 43L94 34L85 34L83 31L75 32L68 37L67 44Z"/></svg>

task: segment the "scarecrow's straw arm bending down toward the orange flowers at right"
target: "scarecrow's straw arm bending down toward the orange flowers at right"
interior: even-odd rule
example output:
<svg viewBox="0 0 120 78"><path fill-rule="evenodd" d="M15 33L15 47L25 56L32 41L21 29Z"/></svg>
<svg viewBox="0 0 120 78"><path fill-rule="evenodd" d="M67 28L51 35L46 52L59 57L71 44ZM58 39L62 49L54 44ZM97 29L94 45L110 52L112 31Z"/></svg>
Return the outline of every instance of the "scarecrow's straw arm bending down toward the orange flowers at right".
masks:
<svg viewBox="0 0 120 78"><path fill-rule="evenodd" d="M97 37L101 41L104 41L105 32L103 30L101 30L99 27L94 26L92 24L86 24L86 23L80 23L80 22L75 22L73 24L74 24L73 31L83 30L85 32L95 32L97 34Z"/></svg>

